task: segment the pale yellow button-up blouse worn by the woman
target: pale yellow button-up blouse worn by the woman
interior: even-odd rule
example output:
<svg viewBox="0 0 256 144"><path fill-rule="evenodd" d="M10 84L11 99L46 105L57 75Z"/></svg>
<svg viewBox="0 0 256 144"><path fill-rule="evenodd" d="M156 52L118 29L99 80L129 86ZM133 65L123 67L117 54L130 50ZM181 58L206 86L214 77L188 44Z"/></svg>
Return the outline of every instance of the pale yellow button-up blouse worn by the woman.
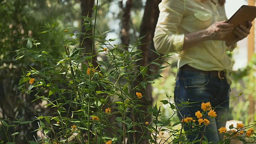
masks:
<svg viewBox="0 0 256 144"><path fill-rule="evenodd" d="M154 34L156 51L162 54L176 52L180 56L178 67L188 64L204 71L224 70L228 83L232 62L226 51L232 51L236 45L227 47L222 40L207 40L196 46L182 50L184 34L204 30L214 22L227 20L224 6L218 0L200 2L199 0L162 0L159 4L160 15Z"/></svg>

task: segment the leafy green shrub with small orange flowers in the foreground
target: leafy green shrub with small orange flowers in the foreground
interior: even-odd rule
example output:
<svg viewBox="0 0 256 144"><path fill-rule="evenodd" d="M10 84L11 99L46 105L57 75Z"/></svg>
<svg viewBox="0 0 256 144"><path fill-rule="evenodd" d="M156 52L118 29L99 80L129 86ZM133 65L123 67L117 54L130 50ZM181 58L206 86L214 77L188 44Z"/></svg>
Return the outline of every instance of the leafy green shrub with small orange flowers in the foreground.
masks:
<svg viewBox="0 0 256 144"><path fill-rule="evenodd" d="M94 7L94 11L97 14L97 6ZM154 79L161 77L157 71L170 65L164 58L170 58L171 55L160 56L155 52L159 57L150 64L158 66L157 70L150 69L150 64L140 66L136 62L143 59L142 51L136 47L141 45L140 40L143 37L138 38L138 42L128 47L127 51L122 48L127 46L112 45L111 42L115 39L106 40L104 35L107 32L101 34L96 31L95 25L92 25L92 18L83 18L87 22L86 32L93 29L92 35L88 36L86 32L70 34L67 29L65 32L76 39L61 40L54 29L55 23L44 26L49 30L42 33L52 32L59 40L63 48L63 55L60 58L52 56L33 38L23 39L27 41L26 47L16 50L16 59L32 57L34 63L40 65L37 68L30 66L30 70L23 70L19 82L20 93L34 96L32 102L44 101L43 106L47 106L52 115L42 115L24 122L22 119L12 122L0 119L0 130L4 131L7 143L15 143L15 136L19 134L16 127L33 122L38 122L38 129L35 131L40 133L40 138L35 136L35 142L28 140L30 144L126 144L126 139L129 140L130 136L133 137L134 144L140 144L142 139L148 140L150 144L191 143L186 139L186 134L190 131L184 132L183 127L206 127L208 121L203 120L204 124L199 121L197 124L197 121L191 118L184 118L182 122L170 124L172 116L178 112L170 102L170 96L166 95L169 101L160 100L162 104L170 105L174 112L166 118L161 112L161 107L148 105L147 96L143 93L148 83L154 83ZM95 24L96 17L94 20ZM93 39L93 47L89 53L83 53L86 48L78 48L82 45L79 42L80 38ZM93 65L97 54L106 55L108 60L96 61L97 65ZM152 74L148 74L148 71L152 71ZM138 81L139 76L142 76L143 81ZM134 82L138 84L135 85ZM188 105L190 102L182 104ZM147 112L140 109L144 106L148 107ZM129 117L128 113L132 116ZM139 117L136 118L135 114ZM152 120L146 121L147 117ZM175 129L177 125L181 125L181 128ZM10 127L14 128L13 139L9 139L8 136ZM196 130L198 128L191 132ZM163 138L164 132L169 136ZM139 141L136 141L135 133L142 135ZM255 137L253 138L255 140ZM208 141L202 137L197 142ZM222 142L228 143L228 140Z"/></svg>

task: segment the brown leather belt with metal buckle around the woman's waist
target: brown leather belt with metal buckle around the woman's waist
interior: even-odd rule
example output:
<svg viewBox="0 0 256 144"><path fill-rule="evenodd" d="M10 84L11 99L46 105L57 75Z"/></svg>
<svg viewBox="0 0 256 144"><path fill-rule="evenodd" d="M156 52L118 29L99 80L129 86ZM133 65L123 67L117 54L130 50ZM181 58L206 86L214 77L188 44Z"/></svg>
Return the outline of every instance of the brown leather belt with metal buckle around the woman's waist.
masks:
<svg viewBox="0 0 256 144"><path fill-rule="evenodd" d="M216 76L216 77L220 78L221 80L223 80L226 77L226 74L225 74L225 72L223 70L222 71L217 71L217 70L213 70L213 71L197 70L195 68L192 68L188 64L185 64L180 69L181 70L192 70L192 71L201 72L201 73L204 73L204 74L209 74L209 75L212 75L212 76Z"/></svg>

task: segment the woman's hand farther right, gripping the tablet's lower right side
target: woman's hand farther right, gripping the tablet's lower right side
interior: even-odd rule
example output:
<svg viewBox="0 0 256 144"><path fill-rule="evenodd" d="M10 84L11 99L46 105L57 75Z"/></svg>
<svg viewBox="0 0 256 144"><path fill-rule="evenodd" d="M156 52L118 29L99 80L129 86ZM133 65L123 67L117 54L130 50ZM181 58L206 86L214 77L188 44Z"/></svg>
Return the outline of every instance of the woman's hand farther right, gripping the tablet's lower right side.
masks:
<svg viewBox="0 0 256 144"><path fill-rule="evenodd" d="M248 21L247 24L248 24L247 27L240 25L237 28L235 28L234 33L237 36L236 41L242 40L250 34L252 22Z"/></svg>

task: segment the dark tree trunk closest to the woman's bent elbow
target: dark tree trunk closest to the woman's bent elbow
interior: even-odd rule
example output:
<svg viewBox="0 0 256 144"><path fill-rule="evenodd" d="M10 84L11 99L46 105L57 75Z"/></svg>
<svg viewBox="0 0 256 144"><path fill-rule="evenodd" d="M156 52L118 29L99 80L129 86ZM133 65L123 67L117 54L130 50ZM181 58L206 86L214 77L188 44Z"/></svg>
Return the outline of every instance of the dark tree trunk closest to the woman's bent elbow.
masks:
<svg viewBox="0 0 256 144"><path fill-rule="evenodd" d="M158 4L161 1L162 0L147 0L147 2L146 2L144 16L143 16L142 24L140 26L140 37L145 36L141 40L141 43L144 45L141 45L140 47L138 47L138 49L142 50L142 52L143 52L142 55L144 57L142 60L138 61L138 64L140 66L147 66L150 62L152 62L153 60L158 58L158 55L156 55L154 52L152 52L149 49L155 50L154 44L153 44L153 37L154 37L154 32L155 32L158 16L160 13L159 9L158 9ZM157 67L156 67L156 65L151 65L150 69L157 70ZM151 71L148 70L148 74L150 74L150 72ZM143 80L144 79L142 76L138 77L138 80L134 83L134 86L137 86L139 84L138 82L142 82ZM143 105L146 104L147 106L152 106L152 86L151 86L151 84L147 84L146 90L143 91L143 95L145 95L146 98L140 99L140 100L143 100L143 102L141 102L140 104L143 104ZM140 110L147 112L148 111L147 106L140 107ZM144 118L142 118L142 116L139 116L138 114L135 115L135 118L136 117L139 118L140 122L142 122L142 123L152 121L152 119L150 117L147 117L144 119ZM139 127L136 127L136 130L143 132L141 130L141 128L139 128ZM145 134L145 136L147 136L147 134L148 134L148 136L150 136L149 132L147 132ZM140 138L142 137L142 134L136 133L135 135L136 135L136 142L138 142L140 140ZM130 141L130 143L133 143L132 135L130 135L129 141ZM146 140L146 138L143 138L142 140L140 140L139 143L140 144L149 144L149 142L148 142L148 140Z"/></svg>

